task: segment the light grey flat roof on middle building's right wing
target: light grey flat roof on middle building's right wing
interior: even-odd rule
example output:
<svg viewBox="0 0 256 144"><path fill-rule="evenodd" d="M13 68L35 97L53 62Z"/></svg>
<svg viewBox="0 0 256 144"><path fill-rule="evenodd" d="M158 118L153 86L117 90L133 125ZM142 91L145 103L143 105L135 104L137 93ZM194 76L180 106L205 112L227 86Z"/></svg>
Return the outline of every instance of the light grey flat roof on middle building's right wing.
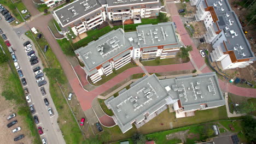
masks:
<svg viewBox="0 0 256 144"><path fill-rule="evenodd" d="M132 43L138 47L152 47L159 45L179 44L173 22L163 22L157 25L139 25L137 31L127 33L127 38L132 38Z"/></svg>

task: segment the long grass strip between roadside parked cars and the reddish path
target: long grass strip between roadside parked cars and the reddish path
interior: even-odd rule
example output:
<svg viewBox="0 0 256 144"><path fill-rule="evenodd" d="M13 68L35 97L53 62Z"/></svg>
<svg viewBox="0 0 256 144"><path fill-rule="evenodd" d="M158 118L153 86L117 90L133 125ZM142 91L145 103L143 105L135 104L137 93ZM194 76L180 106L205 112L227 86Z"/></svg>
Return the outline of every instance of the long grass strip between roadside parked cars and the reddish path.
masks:
<svg viewBox="0 0 256 144"><path fill-rule="evenodd" d="M34 44L36 44L36 40L32 37L32 33L30 31L26 32L26 35L34 42ZM34 34L34 36L36 35ZM38 47L37 44L35 46L38 50L41 61L44 63L44 68L49 68L48 63L46 63L46 59L43 57L42 51L39 50L42 49L47 42L44 39L44 37L37 39L37 41L40 47ZM51 51L50 47L48 48L48 51L45 53L45 56L49 59L48 62L51 68L57 68L62 70L60 62L57 60L56 56L54 55L54 52ZM63 77L63 79L66 82L65 85L61 85L61 87L68 89L69 84L66 75L64 73L61 73L61 75L61 77ZM53 98L56 109L59 112L59 118L57 122L59 123L66 143L82 143L83 135L77 123L75 122L75 119L71 111L69 110L66 100L63 98L61 89L59 88L57 82L54 79L50 79L49 77L48 79L50 83L51 98ZM68 95L68 91L65 92L65 95Z"/></svg>

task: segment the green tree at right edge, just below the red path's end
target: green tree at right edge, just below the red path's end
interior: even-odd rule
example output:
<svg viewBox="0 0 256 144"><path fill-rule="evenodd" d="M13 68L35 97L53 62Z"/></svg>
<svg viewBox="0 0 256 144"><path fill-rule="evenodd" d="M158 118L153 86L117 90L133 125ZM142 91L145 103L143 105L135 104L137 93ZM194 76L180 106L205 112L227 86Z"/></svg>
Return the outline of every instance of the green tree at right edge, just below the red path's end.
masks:
<svg viewBox="0 0 256 144"><path fill-rule="evenodd" d="M241 103L238 106L235 107L235 111L237 113L251 113L253 111L256 111L256 105L251 103Z"/></svg>

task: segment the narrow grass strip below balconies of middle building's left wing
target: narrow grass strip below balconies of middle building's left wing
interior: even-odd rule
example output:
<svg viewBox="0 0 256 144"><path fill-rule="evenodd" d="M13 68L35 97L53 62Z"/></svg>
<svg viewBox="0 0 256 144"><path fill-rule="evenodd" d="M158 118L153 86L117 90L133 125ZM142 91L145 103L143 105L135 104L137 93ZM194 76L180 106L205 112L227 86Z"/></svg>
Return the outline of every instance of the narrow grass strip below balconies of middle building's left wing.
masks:
<svg viewBox="0 0 256 144"><path fill-rule="evenodd" d="M136 65L136 64L133 64L133 63L128 63L128 64L124 65L124 67L121 67L121 68L118 69L118 70L115 70L115 71L113 70L113 73L112 73L112 74L103 77L102 80L100 80L100 81L94 83L93 85L95 85L95 86L100 86L100 85L102 85L103 83L105 83L105 82L107 82L107 81L113 79L115 76L117 76L117 75L123 73L123 71L125 71L125 70L127 70L127 69L130 69L130 68L133 68L133 67L137 67L137 65ZM90 80L90 79L88 79L88 80ZM92 82L91 82L91 83L92 83Z"/></svg>

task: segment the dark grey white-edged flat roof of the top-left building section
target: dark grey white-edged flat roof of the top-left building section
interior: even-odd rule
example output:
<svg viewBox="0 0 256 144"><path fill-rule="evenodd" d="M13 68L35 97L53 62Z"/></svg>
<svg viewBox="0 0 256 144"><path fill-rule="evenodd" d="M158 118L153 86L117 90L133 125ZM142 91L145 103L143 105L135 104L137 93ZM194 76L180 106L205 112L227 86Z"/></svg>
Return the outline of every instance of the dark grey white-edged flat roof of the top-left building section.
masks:
<svg viewBox="0 0 256 144"><path fill-rule="evenodd" d="M77 0L54 11L61 26L65 27L92 11L102 7L97 0Z"/></svg>

